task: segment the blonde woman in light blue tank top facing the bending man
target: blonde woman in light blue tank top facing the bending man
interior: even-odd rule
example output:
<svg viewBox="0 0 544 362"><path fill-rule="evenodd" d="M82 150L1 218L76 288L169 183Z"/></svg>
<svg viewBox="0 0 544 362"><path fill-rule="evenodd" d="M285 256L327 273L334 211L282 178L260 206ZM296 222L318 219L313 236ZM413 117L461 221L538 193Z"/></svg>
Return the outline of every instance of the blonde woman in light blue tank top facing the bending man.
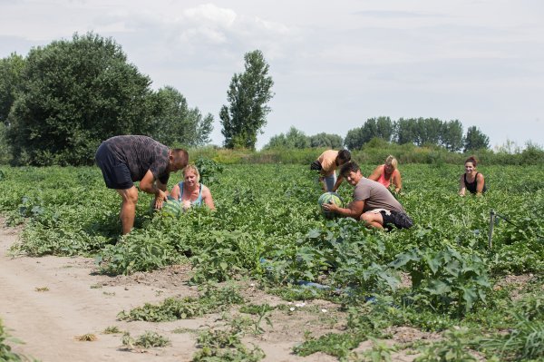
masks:
<svg viewBox="0 0 544 362"><path fill-rule="evenodd" d="M189 164L183 169L183 181L176 184L170 191L170 196L181 202L183 210L188 210L191 206L202 206L202 202L209 209L215 210L209 188L199 181L199 170L196 166Z"/></svg>

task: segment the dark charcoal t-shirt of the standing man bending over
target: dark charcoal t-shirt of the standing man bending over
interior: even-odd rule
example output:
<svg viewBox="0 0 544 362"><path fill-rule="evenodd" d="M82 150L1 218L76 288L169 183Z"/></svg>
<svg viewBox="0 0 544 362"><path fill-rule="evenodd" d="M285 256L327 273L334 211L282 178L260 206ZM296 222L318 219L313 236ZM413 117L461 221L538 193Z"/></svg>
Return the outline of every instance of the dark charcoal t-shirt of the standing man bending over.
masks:
<svg viewBox="0 0 544 362"><path fill-rule="evenodd" d="M126 164L132 181L141 181L149 170L156 180L168 182L169 148L148 136L115 136L106 141L114 157Z"/></svg>

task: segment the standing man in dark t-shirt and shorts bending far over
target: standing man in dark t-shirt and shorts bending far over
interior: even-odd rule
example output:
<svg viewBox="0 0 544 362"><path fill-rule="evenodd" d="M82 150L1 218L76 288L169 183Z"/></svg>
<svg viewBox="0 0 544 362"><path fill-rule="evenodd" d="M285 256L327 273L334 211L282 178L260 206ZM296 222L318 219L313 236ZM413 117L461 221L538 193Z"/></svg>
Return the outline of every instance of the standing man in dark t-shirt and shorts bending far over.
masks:
<svg viewBox="0 0 544 362"><path fill-rule="evenodd" d="M122 233L131 232L136 215L138 190L132 182L140 181L140 190L155 195L156 209L167 200L165 193L170 172L187 166L189 154L183 149L169 149L147 136L115 136L100 145L96 164L108 189L122 198Z"/></svg>

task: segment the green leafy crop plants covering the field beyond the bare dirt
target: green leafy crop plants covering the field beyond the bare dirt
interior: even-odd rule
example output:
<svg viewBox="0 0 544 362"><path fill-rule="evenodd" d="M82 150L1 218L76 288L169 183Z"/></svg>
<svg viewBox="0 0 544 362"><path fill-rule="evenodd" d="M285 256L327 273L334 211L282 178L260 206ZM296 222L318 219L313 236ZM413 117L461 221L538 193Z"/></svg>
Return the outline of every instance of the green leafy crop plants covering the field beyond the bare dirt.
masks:
<svg viewBox="0 0 544 362"><path fill-rule="evenodd" d="M391 232L325 220L316 206L321 190L306 166L206 167L216 211L172 219L153 214L151 195L141 193L136 229L125 237L120 198L97 168L1 168L0 211L12 224L25 222L12 251L92 256L107 274L190 263L197 284L246 276L284 298L333 300L349 311L342 338L384 337L389 326L412 326L449 331L428 356L457 346L467 358L467 350L490 360L544 357L538 166L481 168L489 191L461 198L461 167L403 165L398 199L415 225ZM172 175L170 187L179 177ZM339 193L349 201L352 190L344 184ZM501 218L490 248L491 210ZM530 275L517 298L501 284L512 274Z"/></svg>

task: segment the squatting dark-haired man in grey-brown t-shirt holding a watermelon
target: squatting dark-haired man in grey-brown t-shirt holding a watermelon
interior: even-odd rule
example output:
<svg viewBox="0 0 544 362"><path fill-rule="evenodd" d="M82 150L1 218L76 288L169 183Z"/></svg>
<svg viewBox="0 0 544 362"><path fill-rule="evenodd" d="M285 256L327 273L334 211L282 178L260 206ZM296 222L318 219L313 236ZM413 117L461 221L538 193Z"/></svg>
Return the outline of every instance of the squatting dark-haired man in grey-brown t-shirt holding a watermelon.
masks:
<svg viewBox="0 0 544 362"><path fill-rule="evenodd" d="M340 208L334 203L324 203L323 209L341 216L364 221L367 227L399 229L412 227L413 221L396 201L391 192L379 182L368 180L361 174L359 165L354 161L345 163L340 170L347 183L355 187L354 201L347 208Z"/></svg>

